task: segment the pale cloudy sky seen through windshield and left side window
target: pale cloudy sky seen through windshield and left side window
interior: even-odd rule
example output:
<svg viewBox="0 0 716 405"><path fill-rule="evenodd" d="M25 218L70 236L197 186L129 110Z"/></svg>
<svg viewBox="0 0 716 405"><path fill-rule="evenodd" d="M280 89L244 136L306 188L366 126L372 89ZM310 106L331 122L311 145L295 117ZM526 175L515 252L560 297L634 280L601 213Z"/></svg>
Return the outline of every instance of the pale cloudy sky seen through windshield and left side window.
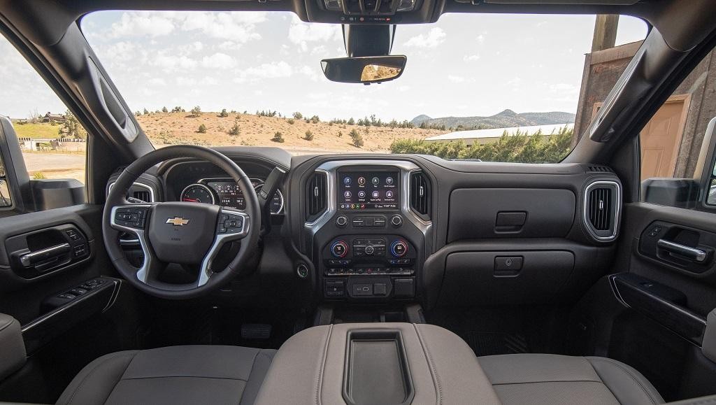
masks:
<svg viewBox="0 0 716 405"><path fill-rule="evenodd" d="M344 57L339 25L290 12L97 11L82 32L132 111L180 105L284 115L411 120L426 114L575 113L594 16L445 14L401 25L392 54L402 77L379 85L329 82L320 61ZM621 16L616 44L647 26ZM26 118L64 105L0 39L0 114Z"/></svg>

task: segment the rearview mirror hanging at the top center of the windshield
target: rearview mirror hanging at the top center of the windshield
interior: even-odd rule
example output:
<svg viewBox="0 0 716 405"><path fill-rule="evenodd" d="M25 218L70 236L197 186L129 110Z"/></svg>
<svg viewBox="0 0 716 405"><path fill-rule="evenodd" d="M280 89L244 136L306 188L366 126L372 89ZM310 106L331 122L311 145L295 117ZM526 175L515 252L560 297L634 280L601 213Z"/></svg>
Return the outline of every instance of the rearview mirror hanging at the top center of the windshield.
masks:
<svg viewBox="0 0 716 405"><path fill-rule="evenodd" d="M326 79L332 82L369 85L397 79L405 70L405 62L404 55L339 57L321 60L321 67Z"/></svg>

